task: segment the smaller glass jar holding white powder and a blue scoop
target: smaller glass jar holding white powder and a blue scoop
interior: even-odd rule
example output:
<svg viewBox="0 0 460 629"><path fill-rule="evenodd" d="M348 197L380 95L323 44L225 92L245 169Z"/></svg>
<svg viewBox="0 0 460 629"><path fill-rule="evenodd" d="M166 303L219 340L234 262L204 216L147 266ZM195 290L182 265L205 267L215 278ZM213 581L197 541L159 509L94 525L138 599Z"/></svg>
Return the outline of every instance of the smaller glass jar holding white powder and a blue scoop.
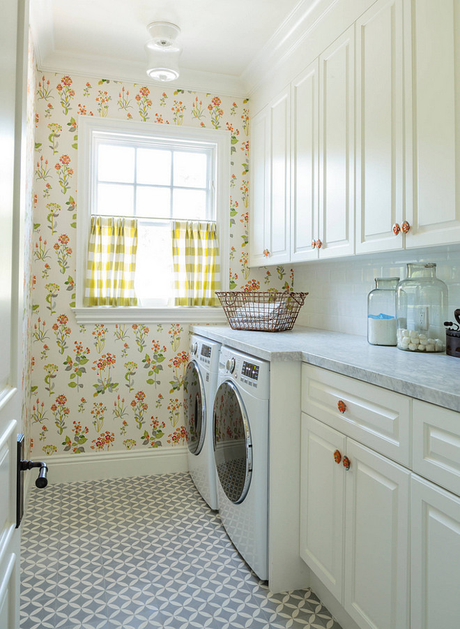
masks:
<svg viewBox="0 0 460 629"><path fill-rule="evenodd" d="M399 277L376 277L376 288L367 296L367 341L371 345L396 345L396 287Z"/></svg>

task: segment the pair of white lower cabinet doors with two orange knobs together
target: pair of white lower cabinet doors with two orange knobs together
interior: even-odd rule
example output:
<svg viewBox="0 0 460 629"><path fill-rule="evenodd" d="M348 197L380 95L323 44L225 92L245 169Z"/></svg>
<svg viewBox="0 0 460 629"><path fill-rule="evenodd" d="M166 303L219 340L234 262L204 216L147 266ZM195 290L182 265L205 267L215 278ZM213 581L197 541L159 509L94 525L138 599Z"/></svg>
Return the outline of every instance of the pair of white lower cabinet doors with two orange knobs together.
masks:
<svg viewBox="0 0 460 629"><path fill-rule="evenodd" d="M305 413L301 457L300 556L358 626L407 629L410 472Z"/></svg>

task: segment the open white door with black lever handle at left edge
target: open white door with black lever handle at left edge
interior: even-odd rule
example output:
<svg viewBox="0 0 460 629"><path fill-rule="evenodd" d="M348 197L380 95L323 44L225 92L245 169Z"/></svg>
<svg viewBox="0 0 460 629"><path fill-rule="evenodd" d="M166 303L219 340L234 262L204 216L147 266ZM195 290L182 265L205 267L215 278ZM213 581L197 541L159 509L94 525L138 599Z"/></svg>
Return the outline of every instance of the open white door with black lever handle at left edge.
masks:
<svg viewBox="0 0 460 629"><path fill-rule="evenodd" d="M19 628L20 531L16 524L16 440L21 428L17 244L26 3L2 3L0 20L0 627ZM17 54L17 42L20 52ZM15 243L13 243L13 239ZM13 288L12 288L13 287ZM20 303L20 302L19 302ZM19 383L19 385L18 385Z"/></svg>

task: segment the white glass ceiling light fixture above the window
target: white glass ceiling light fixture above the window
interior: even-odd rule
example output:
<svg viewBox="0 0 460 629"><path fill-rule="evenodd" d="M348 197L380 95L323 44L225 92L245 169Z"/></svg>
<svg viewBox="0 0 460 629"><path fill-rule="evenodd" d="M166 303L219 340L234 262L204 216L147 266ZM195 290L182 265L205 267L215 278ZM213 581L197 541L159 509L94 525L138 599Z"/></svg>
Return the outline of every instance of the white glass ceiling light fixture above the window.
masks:
<svg viewBox="0 0 460 629"><path fill-rule="evenodd" d="M182 47L176 38L181 29L171 22L152 22L147 30L151 36L145 46L148 76L155 81L174 81L179 77Z"/></svg>

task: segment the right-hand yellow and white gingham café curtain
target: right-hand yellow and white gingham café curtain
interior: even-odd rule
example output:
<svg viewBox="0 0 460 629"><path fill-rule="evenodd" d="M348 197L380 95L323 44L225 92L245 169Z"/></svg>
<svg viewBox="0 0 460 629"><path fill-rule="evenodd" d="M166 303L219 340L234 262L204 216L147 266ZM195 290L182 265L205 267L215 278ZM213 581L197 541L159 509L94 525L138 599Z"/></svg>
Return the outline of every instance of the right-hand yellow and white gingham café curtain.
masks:
<svg viewBox="0 0 460 629"><path fill-rule="evenodd" d="M175 306L217 306L219 244L215 223L173 221Z"/></svg>

